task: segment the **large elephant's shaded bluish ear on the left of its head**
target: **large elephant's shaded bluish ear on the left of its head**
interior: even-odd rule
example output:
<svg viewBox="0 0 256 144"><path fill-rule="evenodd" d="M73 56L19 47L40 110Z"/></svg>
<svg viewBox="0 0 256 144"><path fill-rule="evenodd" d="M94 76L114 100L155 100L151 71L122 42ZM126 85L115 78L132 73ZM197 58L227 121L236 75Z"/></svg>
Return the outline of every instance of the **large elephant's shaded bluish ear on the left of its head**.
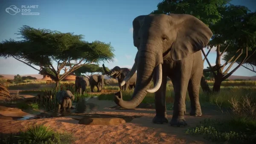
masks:
<svg viewBox="0 0 256 144"><path fill-rule="evenodd" d="M139 49L140 47L140 40L138 39L139 30L140 27L143 25L143 21L146 16L147 15L140 15L138 17L135 17L132 22L134 46L137 47L137 49Z"/></svg>

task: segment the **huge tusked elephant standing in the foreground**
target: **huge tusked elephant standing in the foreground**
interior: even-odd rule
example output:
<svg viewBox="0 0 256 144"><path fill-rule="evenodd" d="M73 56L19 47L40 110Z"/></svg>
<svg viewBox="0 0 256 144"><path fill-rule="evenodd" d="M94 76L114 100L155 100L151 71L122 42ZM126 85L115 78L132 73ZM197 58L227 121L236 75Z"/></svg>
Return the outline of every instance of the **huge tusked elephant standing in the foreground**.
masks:
<svg viewBox="0 0 256 144"><path fill-rule="evenodd" d="M212 32L201 20L189 14L141 15L133 21L134 46L138 52L124 85L137 70L137 81L130 101L115 94L115 102L124 108L137 107L147 92L155 92L154 123L168 123L166 115L167 77L174 87L171 125L186 126L184 119L186 91L191 103L190 115L201 116L200 80L203 74L201 49L209 43ZM154 87L149 89L153 78Z"/></svg>

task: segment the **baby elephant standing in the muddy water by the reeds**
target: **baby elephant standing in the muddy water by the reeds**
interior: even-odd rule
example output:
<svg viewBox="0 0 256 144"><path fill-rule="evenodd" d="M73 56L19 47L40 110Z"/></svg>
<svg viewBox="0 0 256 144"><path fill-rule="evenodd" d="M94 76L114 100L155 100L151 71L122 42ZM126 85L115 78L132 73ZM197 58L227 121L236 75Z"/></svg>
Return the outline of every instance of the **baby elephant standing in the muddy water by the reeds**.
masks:
<svg viewBox="0 0 256 144"><path fill-rule="evenodd" d="M75 96L69 91L60 91L57 92L56 94L56 99L58 101L58 109L63 109L63 108L71 108L72 107L72 101L74 101ZM70 103L70 101L71 103Z"/></svg>

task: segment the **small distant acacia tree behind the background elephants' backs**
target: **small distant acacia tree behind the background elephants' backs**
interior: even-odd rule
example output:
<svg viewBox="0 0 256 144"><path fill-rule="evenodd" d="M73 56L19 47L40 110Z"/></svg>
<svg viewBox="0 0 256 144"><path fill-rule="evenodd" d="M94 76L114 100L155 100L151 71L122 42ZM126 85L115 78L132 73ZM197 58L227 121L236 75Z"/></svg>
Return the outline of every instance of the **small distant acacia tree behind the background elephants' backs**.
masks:
<svg viewBox="0 0 256 144"><path fill-rule="evenodd" d="M109 70L108 68L106 69ZM76 75L85 74L88 77L94 74L102 74L102 75L105 74L103 67L100 67L99 64L90 64L90 65L81 66L79 69L76 69L74 73Z"/></svg>

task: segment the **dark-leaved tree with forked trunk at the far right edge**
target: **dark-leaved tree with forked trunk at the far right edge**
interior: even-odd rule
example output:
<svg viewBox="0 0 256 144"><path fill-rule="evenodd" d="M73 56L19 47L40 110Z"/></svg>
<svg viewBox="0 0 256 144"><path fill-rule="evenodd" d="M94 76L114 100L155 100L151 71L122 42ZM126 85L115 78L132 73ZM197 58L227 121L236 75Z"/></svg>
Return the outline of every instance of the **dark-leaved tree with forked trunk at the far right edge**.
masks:
<svg viewBox="0 0 256 144"><path fill-rule="evenodd" d="M256 49L253 49L256 46L256 14L250 13L245 6L234 5L225 6L220 11L222 18L212 26L215 35L209 42L209 46L217 47L215 66L219 68L216 74L213 73L215 82L212 90L214 92L219 92L221 82L230 77L256 52ZM221 64L221 56L224 56L225 52L233 53L233 55L230 58L227 57L226 62ZM244 55L244 58L241 58L241 55ZM231 70L239 58L241 58L239 65ZM209 61L207 63L211 67Z"/></svg>

